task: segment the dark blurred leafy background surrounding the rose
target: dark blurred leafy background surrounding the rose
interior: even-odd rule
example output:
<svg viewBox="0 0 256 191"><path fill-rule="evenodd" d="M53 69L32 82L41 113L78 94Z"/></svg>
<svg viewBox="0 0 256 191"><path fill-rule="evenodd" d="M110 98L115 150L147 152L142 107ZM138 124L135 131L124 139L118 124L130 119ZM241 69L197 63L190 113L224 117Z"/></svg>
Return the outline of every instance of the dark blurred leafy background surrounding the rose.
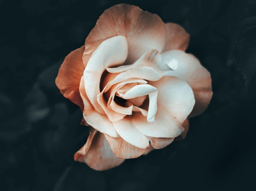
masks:
<svg viewBox="0 0 256 191"><path fill-rule="evenodd" d="M183 141L100 172L73 161L89 131L54 80L65 56L118 3L183 26L191 34L187 52L211 73L213 98L190 119ZM23 0L0 6L1 190L256 190L255 0Z"/></svg>

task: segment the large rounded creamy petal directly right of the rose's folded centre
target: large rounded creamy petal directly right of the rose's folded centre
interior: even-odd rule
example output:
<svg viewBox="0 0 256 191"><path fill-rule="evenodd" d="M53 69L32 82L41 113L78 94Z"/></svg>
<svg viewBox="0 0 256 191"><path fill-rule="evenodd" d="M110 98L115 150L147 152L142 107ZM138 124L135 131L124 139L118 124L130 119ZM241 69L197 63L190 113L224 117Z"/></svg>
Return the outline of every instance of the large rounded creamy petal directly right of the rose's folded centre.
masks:
<svg viewBox="0 0 256 191"><path fill-rule="evenodd" d="M136 113L133 115L133 124L149 137L177 137L184 131L182 123L195 103L192 89L175 77L163 77L149 83L158 89L155 120L149 123L142 114Z"/></svg>

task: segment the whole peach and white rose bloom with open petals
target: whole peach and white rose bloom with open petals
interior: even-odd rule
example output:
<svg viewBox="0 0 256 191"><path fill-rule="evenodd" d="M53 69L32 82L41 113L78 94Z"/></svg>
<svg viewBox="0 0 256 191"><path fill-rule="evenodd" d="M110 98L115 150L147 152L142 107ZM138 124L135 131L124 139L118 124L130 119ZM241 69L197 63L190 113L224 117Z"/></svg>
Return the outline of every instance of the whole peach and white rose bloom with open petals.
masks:
<svg viewBox="0 0 256 191"><path fill-rule="evenodd" d="M189 34L156 14L118 4L104 11L60 67L56 85L90 126L74 155L106 170L183 139L187 118L212 98L210 73L185 53Z"/></svg>

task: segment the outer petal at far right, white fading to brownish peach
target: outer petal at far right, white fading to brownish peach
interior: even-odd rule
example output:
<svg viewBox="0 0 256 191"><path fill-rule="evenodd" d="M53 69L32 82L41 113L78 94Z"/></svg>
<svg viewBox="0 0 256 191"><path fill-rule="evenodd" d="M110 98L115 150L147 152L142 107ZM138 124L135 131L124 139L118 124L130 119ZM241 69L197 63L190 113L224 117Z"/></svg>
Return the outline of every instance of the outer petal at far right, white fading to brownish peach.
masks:
<svg viewBox="0 0 256 191"><path fill-rule="evenodd" d="M168 75L186 81L193 89L196 103L189 117L199 115L208 107L212 98L211 75L192 54L179 50L162 53L164 62L173 58L178 60L178 68Z"/></svg>

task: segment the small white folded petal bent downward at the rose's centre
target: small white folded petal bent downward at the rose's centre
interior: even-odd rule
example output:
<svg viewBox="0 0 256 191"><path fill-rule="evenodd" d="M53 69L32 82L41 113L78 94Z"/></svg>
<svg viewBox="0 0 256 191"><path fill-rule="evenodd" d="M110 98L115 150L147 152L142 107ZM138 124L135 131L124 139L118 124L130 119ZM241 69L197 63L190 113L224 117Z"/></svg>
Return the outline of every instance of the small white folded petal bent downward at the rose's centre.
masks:
<svg viewBox="0 0 256 191"><path fill-rule="evenodd" d="M148 121L153 121L157 113L157 88L149 85L149 84L141 84L134 86L129 91L127 91L124 95L124 99L132 99L140 96L149 95L149 108L148 108Z"/></svg>

